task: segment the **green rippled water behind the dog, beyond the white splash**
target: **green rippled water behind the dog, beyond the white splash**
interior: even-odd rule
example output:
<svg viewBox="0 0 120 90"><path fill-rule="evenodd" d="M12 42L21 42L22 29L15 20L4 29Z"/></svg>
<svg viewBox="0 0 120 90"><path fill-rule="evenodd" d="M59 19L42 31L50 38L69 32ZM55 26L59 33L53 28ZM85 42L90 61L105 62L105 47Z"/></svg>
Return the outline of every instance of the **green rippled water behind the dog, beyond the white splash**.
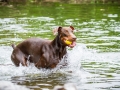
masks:
<svg viewBox="0 0 120 90"><path fill-rule="evenodd" d="M47 3L43 5L1 6L0 38L2 40L0 43L6 45L14 42L12 40L14 38L26 39L33 36L53 39L51 30L55 26L73 25L77 30L78 42L102 51L119 51L119 10L120 6L116 4ZM23 31L20 30L20 33L19 27L23 29ZM9 41L4 40L8 38Z"/></svg>

